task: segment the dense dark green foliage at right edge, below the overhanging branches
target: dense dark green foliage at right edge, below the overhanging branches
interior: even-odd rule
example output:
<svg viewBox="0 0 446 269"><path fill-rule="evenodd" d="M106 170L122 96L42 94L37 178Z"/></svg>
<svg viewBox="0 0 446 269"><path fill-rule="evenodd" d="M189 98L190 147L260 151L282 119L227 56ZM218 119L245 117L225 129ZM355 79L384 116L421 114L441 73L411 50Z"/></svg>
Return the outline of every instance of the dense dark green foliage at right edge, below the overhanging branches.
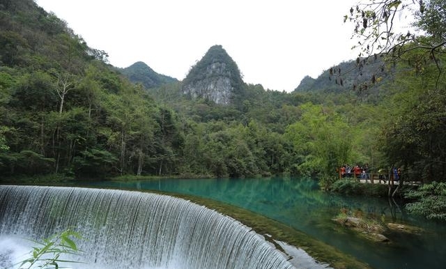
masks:
<svg viewBox="0 0 446 269"><path fill-rule="evenodd" d="M410 70L401 72L395 83L401 93L394 95L399 107L383 126L381 141L387 158L426 182L446 178L446 84L445 75L442 77L436 89L433 66L422 75L413 75Z"/></svg>

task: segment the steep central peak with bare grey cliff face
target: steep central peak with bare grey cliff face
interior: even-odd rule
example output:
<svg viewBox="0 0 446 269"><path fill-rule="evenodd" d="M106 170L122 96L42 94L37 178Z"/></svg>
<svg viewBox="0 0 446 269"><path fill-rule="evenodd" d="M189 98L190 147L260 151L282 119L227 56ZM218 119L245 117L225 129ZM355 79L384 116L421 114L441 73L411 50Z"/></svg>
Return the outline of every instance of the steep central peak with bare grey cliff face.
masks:
<svg viewBox="0 0 446 269"><path fill-rule="evenodd" d="M183 80L182 93L192 99L203 98L229 105L244 91L240 70L221 45L208 49Z"/></svg>

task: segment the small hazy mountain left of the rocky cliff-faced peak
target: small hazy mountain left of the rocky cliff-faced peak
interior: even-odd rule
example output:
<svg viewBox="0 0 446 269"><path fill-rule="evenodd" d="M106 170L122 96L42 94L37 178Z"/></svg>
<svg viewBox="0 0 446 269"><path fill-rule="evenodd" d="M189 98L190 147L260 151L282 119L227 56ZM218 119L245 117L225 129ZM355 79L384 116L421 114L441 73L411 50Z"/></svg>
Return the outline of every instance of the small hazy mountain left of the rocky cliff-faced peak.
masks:
<svg viewBox="0 0 446 269"><path fill-rule="evenodd" d="M141 61L133 63L128 68L119 70L125 77L128 77L133 83L141 83L146 89L155 88L162 84L178 82L178 79L161 75Z"/></svg>

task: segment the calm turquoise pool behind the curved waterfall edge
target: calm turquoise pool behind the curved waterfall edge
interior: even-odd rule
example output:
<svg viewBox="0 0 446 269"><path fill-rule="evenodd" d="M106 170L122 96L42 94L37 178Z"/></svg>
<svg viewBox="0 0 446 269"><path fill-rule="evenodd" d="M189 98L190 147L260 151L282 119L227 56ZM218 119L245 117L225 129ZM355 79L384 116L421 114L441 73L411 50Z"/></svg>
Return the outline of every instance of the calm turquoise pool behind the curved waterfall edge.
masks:
<svg viewBox="0 0 446 269"><path fill-rule="evenodd" d="M444 225L406 214L397 201L326 194L318 190L317 182L311 178L161 179L90 184L192 194L230 203L288 224L377 269L443 269L446 265ZM385 222L420 226L424 233L392 234L392 244L371 243L330 220L341 208L361 210Z"/></svg>

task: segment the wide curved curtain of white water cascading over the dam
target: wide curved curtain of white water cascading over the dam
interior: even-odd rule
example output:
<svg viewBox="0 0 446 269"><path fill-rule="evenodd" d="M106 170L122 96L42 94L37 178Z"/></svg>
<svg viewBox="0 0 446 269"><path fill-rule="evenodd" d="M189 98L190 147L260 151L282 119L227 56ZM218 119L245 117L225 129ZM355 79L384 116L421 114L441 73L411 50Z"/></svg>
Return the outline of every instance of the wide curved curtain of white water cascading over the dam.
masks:
<svg viewBox="0 0 446 269"><path fill-rule="evenodd" d="M247 226L183 199L0 186L0 236L38 239L68 227L86 238L77 242L81 268L294 268Z"/></svg>

